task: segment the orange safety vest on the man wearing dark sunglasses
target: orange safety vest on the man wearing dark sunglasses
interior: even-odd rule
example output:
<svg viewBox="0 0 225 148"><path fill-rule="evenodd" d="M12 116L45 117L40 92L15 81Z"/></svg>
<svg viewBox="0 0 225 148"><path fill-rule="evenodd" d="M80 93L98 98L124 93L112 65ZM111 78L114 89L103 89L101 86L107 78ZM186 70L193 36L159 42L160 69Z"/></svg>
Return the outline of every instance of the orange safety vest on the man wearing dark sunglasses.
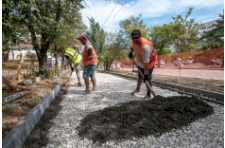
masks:
<svg viewBox="0 0 225 148"><path fill-rule="evenodd" d="M156 51L155 51L155 48L154 48L154 45L153 45L152 42L150 42L150 41L146 40L145 38L141 37L141 42L140 42L139 49L138 49L138 51L139 51L138 56L140 57L141 60L143 60L142 50L143 50L144 44L149 44L153 49L153 51L151 53L151 56L149 57L150 62L149 62L149 65L148 65L148 68L151 69L155 65L155 62L157 61ZM135 47L135 44L134 44L134 42L132 42L132 47L131 47L132 52L134 51L134 47Z"/></svg>

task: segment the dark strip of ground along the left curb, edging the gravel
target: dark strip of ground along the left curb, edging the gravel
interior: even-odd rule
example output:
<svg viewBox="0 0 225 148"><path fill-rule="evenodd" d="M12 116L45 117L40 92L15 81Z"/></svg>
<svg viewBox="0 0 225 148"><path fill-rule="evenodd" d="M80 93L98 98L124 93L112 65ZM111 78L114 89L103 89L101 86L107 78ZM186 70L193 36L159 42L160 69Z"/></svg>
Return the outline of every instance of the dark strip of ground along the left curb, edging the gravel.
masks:
<svg viewBox="0 0 225 148"><path fill-rule="evenodd" d="M23 148L34 148L34 147L43 147L48 144L48 130L52 127L52 119L59 113L61 110L60 102L62 101L62 96L67 94L65 89L61 89L56 98L46 109L44 115L41 117L38 124L32 130L30 136L27 137L27 140L23 144Z"/></svg>

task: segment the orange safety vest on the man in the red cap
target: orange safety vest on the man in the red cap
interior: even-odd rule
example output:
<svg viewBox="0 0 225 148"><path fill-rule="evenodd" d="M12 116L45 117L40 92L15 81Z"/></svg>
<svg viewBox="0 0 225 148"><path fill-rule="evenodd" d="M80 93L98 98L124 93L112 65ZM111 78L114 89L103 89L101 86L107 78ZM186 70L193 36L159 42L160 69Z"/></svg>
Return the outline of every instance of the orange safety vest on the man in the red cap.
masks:
<svg viewBox="0 0 225 148"><path fill-rule="evenodd" d="M94 63L98 63L97 54L95 52L94 47L92 46L92 53L90 57L88 58L88 52L86 50L86 46L84 46L83 49L83 65L84 67L88 65L93 65Z"/></svg>

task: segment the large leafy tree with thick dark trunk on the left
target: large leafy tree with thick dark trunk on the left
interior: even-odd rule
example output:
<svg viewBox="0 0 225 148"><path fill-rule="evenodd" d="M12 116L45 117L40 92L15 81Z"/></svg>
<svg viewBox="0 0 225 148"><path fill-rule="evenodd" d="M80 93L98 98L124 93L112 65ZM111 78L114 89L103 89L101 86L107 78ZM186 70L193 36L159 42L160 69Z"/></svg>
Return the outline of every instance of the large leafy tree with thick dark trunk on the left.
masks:
<svg viewBox="0 0 225 148"><path fill-rule="evenodd" d="M60 22L81 22L82 0L6 1L3 7L11 8L8 10L10 17L3 21L14 20L28 28L39 61L39 73L43 74L47 69L47 51L57 36Z"/></svg>

